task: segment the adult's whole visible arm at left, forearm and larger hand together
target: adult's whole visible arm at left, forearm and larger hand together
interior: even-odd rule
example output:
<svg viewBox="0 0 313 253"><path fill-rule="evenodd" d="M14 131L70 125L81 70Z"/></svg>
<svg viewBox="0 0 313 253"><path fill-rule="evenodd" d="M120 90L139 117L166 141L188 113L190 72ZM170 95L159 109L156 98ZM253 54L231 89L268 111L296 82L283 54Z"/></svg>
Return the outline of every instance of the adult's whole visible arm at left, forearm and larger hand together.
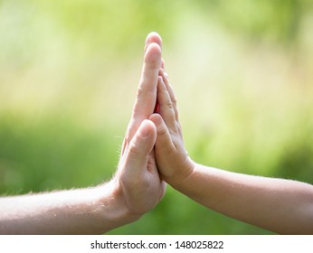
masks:
<svg viewBox="0 0 313 253"><path fill-rule="evenodd" d="M132 117L117 173L97 187L0 198L1 234L100 234L138 220L165 193L153 147L156 126L147 119L156 105L162 65L161 38L150 33Z"/></svg>

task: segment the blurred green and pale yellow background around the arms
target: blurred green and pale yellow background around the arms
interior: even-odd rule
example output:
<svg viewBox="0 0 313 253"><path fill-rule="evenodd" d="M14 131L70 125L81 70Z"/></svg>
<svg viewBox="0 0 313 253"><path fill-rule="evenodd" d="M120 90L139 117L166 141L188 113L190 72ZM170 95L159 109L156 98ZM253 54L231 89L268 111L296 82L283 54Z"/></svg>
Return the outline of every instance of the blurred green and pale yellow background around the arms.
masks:
<svg viewBox="0 0 313 253"><path fill-rule="evenodd" d="M313 183L310 0L0 0L2 195L109 180L151 31L196 162ZM270 232L167 187L110 234Z"/></svg>

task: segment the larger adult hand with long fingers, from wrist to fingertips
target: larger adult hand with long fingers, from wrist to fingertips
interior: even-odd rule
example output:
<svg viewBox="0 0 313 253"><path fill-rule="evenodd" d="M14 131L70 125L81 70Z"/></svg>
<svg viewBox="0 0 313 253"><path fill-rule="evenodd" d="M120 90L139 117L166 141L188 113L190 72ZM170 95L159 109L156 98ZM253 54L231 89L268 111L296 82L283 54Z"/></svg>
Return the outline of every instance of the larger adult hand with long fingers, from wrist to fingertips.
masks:
<svg viewBox="0 0 313 253"><path fill-rule="evenodd" d="M116 186L131 214L153 209L165 193L166 183L158 174L153 147L156 126L147 118L156 106L156 85L162 66L161 38L147 35L145 58L126 136L122 145Z"/></svg>

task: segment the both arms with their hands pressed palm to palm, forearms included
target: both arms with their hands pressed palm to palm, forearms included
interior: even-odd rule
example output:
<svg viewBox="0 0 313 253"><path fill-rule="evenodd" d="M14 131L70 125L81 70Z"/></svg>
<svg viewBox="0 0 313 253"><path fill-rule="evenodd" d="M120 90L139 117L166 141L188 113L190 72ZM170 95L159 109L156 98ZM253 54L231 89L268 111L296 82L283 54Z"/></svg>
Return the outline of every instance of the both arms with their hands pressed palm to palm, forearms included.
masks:
<svg viewBox="0 0 313 253"><path fill-rule="evenodd" d="M205 207L279 233L313 233L313 186L195 164L187 155L161 38L147 36L138 94L109 183L0 197L0 234L99 234L138 220L166 183Z"/></svg>

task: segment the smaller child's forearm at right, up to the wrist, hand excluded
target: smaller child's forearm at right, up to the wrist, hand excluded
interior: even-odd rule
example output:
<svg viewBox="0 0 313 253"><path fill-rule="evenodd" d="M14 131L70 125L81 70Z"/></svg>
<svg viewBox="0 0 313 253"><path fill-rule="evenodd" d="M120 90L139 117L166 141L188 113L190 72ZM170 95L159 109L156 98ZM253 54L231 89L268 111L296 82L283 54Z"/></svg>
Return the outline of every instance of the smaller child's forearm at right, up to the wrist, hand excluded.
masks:
<svg viewBox="0 0 313 253"><path fill-rule="evenodd" d="M178 191L234 219L283 234L313 233L313 186L194 164Z"/></svg>

